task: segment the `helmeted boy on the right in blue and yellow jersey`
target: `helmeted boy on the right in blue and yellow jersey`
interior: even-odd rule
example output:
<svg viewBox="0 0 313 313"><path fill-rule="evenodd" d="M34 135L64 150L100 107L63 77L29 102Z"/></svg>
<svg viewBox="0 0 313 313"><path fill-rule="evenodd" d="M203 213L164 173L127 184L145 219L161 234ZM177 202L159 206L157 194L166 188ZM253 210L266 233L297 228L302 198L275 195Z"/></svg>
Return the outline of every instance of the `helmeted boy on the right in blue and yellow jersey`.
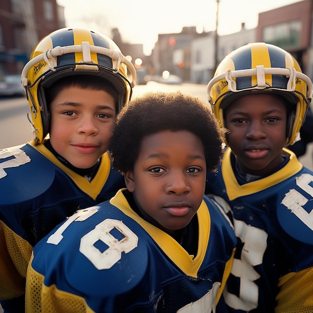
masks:
<svg viewBox="0 0 313 313"><path fill-rule="evenodd" d="M228 129L206 192L230 205L239 240L223 292L231 312L313 311L313 172L284 148L298 139L312 90L289 53L260 42L227 55L207 85Z"/></svg>

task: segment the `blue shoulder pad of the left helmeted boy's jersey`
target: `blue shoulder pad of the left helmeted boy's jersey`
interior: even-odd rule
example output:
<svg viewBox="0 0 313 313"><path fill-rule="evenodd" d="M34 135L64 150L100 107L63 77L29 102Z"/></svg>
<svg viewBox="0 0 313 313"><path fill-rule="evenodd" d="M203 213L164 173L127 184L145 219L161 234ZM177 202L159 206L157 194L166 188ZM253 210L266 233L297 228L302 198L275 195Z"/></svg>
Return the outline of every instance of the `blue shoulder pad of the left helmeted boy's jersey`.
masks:
<svg viewBox="0 0 313 313"><path fill-rule="evenodd" d="M54 165L28 143L0 150L0 205L36 197L54 179Z"/></svg>

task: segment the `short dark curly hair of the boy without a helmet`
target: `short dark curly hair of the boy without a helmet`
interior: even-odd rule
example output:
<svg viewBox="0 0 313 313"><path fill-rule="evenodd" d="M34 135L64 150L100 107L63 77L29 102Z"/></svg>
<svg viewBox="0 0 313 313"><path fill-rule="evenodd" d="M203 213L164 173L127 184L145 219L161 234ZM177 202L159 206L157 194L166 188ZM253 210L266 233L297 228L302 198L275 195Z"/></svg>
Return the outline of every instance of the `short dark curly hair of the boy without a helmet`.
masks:
<svg viewBox="0 0 313 313"><path fill-rule="evenodd" d="M113 167L122 173L133 170L142 139L163 130L195 134L203 144L206 170L215 170L225 129L219 127L209 104L179 91L149 92L121 109L108 146Z"/></svg>

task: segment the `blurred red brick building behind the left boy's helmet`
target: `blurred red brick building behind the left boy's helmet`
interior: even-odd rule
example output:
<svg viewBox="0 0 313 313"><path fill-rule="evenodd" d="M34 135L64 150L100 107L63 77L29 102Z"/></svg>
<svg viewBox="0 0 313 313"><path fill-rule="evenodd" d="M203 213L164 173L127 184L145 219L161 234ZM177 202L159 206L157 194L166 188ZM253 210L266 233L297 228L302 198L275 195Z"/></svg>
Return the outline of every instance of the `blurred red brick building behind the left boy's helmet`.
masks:
<svg viewBox="0 0 313 313"><path fill-rule="evenodd" d="M64 25L56 0L1 0L0 75L19 73L36 42Z"/></svg>

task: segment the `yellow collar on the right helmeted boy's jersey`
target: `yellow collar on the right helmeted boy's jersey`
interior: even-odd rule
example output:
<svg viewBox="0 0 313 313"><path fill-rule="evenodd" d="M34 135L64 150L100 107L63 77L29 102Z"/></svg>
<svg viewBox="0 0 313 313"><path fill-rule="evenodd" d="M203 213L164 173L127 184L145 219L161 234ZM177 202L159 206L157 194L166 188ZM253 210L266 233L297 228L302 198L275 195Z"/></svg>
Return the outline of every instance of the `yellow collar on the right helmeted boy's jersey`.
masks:
<svg viewBox="0 0 313 313"><path fill-rule="evenodd" d="M240 185L237 182L231 166L231 149L228 147L224 152L223 160L221 162L221 174L229 200L264 190L297 173L303 165L297 160L292 151L283 148L283 152L289 155L289 161L285 166L264 178Z"/></svg>

